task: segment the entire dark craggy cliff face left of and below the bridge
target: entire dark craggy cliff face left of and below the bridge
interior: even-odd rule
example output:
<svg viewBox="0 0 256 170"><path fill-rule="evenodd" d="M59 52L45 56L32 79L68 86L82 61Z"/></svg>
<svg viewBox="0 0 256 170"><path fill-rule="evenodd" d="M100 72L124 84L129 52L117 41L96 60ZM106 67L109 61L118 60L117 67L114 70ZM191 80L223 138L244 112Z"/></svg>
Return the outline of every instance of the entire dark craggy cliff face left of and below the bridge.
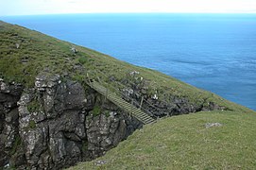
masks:
<svg viewBox="0 0 256 170"><path fill-rule="evenodd" d="M0 85L0 167L60 169L90 161L142 127L70 78L42 74L28 90Z"/></svg>

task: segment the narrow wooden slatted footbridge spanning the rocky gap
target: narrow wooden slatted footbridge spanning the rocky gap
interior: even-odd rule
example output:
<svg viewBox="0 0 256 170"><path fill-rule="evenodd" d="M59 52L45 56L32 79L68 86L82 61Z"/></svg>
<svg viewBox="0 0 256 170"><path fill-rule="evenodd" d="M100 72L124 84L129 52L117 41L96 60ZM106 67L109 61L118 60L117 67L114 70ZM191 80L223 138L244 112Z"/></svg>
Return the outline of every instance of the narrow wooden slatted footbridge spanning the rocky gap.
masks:
<svg viewBox="0 0 256 170"><path fill-rule="evenodd" d="M113 104L118 106L121 110L125 110L129 115L135 117L143 124L152 124L156 122L156 119L149 116L145 111L142 110L142 104L140 108L133 106L132 104L128 103L126 100L121 98L121 96L112 93L109 89L105 88L101 83L90 79L88 76L88 81L86 83L93 88L96 92L101 93L107 99L109 99ZM147 111L148 112L148 111Z"/></svg>

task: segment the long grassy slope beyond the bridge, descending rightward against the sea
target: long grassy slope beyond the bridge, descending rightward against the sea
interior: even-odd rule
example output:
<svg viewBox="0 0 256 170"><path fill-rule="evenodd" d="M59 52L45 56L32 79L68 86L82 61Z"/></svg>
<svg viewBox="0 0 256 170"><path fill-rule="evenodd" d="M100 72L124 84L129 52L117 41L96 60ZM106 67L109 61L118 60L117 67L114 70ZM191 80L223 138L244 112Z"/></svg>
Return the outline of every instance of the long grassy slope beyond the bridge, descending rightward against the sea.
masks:
<svg viewBox="0 0 256 170"><path fill-rule="evenodd" d="M18 49L16 43L20 44ZM77 55L71 51L72 46L77 48ZM28 59L28 62L22 63L22 59ZM82 64L84 70L75 69L74 65L77 64ZM33 86L35 76L43 70L58 74L69 73L79 81L82 81L86 72L96 71L98 76L108 83L111 82L105 76L115 76L117 81L121 81L124 77L128 78L128 73L136 70L149 82L148 93L157 90L161 100L168 101L166 96L173 95L186 97L192 104L200 105L203 101L207 104L212 101L228 110L249 111L245 107L213 93L198 90L171 76L113 59L94 50L63 42L22 26L13 26L0 21L0 76L9 81Z"/></svg>

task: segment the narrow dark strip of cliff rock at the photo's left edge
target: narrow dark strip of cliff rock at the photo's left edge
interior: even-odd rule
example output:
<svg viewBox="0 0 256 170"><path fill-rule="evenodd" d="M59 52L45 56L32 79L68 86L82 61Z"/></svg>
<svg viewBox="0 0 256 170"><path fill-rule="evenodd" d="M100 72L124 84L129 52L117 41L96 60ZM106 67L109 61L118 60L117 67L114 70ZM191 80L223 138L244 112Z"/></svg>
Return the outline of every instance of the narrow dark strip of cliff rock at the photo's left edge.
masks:
<svg viewBox="0 0 256 170"><path fill-rule="evenodd" d="M9 164L11 156L19 152L19 113L17 101L23 92L20 84L6 84L0 79L0 167ZM21 160L22 158L20 158ZM17 163L20 161L17 160Z"/></svg>

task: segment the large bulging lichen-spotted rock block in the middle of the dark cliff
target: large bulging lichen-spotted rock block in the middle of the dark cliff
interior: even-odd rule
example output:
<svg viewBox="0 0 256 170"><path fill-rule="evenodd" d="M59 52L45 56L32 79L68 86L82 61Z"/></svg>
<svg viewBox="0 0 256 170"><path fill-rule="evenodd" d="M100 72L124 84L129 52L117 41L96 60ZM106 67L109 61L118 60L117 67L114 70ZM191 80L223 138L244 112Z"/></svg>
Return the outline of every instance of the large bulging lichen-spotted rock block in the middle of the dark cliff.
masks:
<svg viewBox="0 0 256 170"><path fill-rule="evenodd" d="M29 168L60 168L80 161L85 93L74 81L60 76L37 76L35 89L23 93L19 131Z"/></svg>

